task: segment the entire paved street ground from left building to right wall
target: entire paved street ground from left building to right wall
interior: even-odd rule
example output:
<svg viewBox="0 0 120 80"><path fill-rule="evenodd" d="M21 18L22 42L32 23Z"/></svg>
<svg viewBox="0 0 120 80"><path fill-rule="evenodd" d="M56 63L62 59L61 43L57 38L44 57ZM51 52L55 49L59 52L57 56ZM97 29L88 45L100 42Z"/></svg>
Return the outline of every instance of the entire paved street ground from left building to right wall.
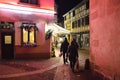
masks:
<svg viewBox="0 0 120 80"><path fill-rule="evenodd" d="M89 51L79 51L80 70L73 73L68 64L63 64L62 57L43 60L0 61L0 80L93 80L90 72L84 70L85 59Z"/></svg>

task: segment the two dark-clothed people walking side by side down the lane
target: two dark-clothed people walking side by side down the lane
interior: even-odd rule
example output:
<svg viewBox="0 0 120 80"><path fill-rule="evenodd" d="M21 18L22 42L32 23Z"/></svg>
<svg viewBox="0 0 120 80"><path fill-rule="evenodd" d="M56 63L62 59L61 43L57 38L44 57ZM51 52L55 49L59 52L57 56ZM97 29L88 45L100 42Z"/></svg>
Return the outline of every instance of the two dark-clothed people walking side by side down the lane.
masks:
<svg viewBox="0 0 120 80"><path fill-rule="evenodd" d="M76 39L73 39L73 41L69 45L67 38L65 38L64 42L61 44L60 51L63 52L64 64L66 64L67 58L69 58L70 67L72 71L74 71L74 66L76 60L78 59L78 44L76 42Z"/></svg>

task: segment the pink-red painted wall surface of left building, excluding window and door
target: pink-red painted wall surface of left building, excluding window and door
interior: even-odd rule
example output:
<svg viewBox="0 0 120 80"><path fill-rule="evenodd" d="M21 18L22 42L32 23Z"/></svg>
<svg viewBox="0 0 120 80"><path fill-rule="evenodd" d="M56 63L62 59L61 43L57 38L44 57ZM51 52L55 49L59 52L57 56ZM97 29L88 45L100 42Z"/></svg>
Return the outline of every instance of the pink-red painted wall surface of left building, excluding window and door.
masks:
<svg viewBox="0 0 120 80"><path fill-rule="evenodd" d="M44 9L54 12L54 0L39 0L39 5L26 5L19 2L19 0L0 0L0 4L10 4L15 6L24 6L34 9ZM26 11L24 11L26 12ZM23 14L16 13L0 8L0 21L14 22L15 28L15 45L14 45L14 58L50 58L51 53L51 40L45 40L45 27L48 22L53 22L54 14L36 13ZM25 48L21 47L21 29L20 26L23 22L36 23L39 31L36 32L37 47ZM0 59L1 59L0 47Z"/></svg>

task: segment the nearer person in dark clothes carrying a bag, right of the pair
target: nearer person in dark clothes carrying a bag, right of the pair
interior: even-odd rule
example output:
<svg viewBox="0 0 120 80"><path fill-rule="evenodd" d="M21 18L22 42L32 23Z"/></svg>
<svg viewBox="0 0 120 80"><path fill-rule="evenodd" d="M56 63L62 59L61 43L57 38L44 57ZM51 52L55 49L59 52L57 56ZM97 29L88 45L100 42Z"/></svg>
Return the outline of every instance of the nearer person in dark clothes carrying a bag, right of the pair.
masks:
<svg viewBox="0 0 120 80"><path fill-rule="evenodd" d="M78 60L78 44L75 39L71 42L71 45L68 49L69 53L69 60L70 60L70 67L72 71L74 72L75 63Z"/></svg>

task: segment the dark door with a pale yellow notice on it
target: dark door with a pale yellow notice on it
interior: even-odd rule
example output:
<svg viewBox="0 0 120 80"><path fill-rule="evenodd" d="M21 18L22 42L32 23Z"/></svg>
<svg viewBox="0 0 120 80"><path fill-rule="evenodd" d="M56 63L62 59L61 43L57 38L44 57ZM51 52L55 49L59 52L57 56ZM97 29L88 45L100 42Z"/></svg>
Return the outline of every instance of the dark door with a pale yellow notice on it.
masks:
<svg viewBox="0 0 120 80"><path fill-rule="evenodd" d="M2 59L14 58L14 32L1 33L1 52Z"/></svg>

